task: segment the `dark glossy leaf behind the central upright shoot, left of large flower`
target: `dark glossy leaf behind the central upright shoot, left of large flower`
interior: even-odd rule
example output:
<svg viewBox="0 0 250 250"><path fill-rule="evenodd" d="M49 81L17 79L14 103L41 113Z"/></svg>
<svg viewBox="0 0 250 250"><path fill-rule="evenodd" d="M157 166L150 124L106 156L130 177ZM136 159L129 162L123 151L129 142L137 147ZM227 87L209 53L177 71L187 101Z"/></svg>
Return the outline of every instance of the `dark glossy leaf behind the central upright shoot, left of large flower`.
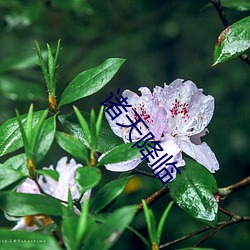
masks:
<svg viewBox="0 0 250 250"><path fill-rule="evenodd" d="M89 119L89 114L84 113L84 116ZM62 115L59 116L60 122L63 127L76 138L78 138L86 147L89 148L89 144L82 132L80 125L74 115ZM104 153L112 148L124 144L122 139L114 134L107 122L102 121L99 140L97 143L97 152Z"/></svg>

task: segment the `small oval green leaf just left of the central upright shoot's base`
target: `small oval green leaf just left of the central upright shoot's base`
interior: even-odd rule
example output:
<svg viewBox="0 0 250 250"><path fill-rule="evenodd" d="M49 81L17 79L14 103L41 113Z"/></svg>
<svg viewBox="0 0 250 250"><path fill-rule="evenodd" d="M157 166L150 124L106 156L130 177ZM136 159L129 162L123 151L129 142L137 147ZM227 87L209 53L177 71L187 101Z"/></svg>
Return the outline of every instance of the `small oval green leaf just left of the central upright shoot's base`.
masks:
<svg viewBox="0 0 250 250"><path fill-rule="evenodd" d="M88 151L85 145L76 137L64 132L56 132L56 141L62 149L71 154L79 162L86 165L89 164Z"/></svg>

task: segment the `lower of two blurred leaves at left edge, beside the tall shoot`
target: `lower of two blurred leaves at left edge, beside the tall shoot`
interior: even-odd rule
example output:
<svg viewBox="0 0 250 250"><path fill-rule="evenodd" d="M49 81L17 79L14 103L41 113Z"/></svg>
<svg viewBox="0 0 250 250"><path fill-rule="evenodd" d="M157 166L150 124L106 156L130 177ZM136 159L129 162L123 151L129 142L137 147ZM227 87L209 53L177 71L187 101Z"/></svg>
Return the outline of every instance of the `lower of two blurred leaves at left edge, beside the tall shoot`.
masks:
<svg viewBox="0 0 250 250"><path fill-rule="evenodd" d="M0 93L14 101L46 101L42 86L14 77L0 77Z"/></svg>

